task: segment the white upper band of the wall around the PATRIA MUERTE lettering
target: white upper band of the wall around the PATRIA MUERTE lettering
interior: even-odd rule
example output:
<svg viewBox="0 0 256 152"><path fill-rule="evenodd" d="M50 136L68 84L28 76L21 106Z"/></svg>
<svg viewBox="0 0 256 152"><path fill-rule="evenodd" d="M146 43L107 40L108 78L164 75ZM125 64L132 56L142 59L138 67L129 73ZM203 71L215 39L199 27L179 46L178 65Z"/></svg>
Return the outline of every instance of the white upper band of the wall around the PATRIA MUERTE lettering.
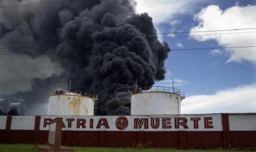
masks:
<svg viewBox="0 0 256 152"><path fill-rule="evenodd" d="M49 125L44 126L47 119L55 119L60 116L41 116L40 130L49 130ZM124 130L119 130L117 120L119 117L125 117L127 126ZM189 114L189 115L162 115L162 116L62 116L65 127L63 130L73 131L222 131L221 114ZM192 119L197 118L198 127L195 128ZM152 127L151 119L159 119L157 128ZM184 128L179 125L176 128L176 119L187 120ZM205 120L208 120L208 125L205 127ZM84 121L84 126L79 125L79 120ZM104 122L107 122L109 128L106 128ZM124 120L124 119L122 119ZM141 127L135 128L136 120L140 120ZM146 121L148 122L146 122ZM7 116L0 116L0 130L5 130ZM49 121L48 121L49 122ZM71 122L69 125L68 123ZM154 123L155 123L154 122ZM165 125L167 127L163 127ZM148 124L145 125L145 124ZM97 128L97 125L100 127ZM138 123L137 123L138 125ZM12 116L11 130L34 130L35 116ZM256 114L229 114L230 131L256 131Z"/></svg>

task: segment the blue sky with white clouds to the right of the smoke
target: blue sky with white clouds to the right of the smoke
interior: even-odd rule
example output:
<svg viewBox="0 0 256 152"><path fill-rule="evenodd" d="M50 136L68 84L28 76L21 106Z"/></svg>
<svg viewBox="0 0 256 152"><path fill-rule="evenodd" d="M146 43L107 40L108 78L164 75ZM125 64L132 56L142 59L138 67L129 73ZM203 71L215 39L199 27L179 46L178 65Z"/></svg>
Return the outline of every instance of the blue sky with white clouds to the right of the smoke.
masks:
<svg viewBox="0 0 256 152"><path fill-rule="evenodd" d="M137 12L148 12L158 33L256 27L256 1L138 0ZM188 33L205 34L209 32ZM166 36L180 35L158 35ZM256 46L255 38L256 33L236 33L160 40L166 41L171 49L191 49ZM172 86L174 75L176 88L186 92L182 113L256 112L256 47L174 50L165 66L165 80L155 85Z"/></svg>

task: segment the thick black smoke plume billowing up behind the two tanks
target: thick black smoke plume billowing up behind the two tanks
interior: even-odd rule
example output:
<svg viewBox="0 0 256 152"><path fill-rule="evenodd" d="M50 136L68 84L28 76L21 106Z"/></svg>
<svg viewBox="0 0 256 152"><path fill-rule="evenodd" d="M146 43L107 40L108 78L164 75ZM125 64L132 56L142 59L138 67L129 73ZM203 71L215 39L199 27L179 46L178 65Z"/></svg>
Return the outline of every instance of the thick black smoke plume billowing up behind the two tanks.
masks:
<svg viewBox="0 0 256 152"><path fill-rule="evenodd" d="M8 1L13 5L30 2ZM147 13L135 13L135 4L133 0L69 0L26 6L26 10L18 10L18 17L10 11L13 9L0 10L20 19L8 24L2 19L0 38L37 41L40 46L10 52L56 53L50 58L63 67L61 75L35 79L32 91L19 95L28 103L37 102L35 94L49 91L53 81L68 84L71 80L73 91L96 90L98 115L130 114L130 91L135 89L136 80L138 86L152 86L155 80L163 80L169 52L168 44L158 41L152 18ZM18 34L6 38L13 31Z"/></svg>

